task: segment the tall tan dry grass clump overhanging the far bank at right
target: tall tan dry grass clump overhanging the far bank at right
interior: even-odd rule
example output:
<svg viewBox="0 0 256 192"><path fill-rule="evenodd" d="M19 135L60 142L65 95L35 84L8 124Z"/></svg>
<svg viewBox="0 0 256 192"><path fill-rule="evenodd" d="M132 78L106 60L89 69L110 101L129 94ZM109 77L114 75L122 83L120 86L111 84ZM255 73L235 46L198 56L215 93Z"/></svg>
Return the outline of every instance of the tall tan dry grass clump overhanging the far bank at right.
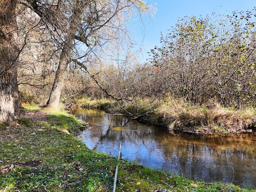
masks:
<svg viewBox="0 0 256 192"><path fill-rule="evenodd" d="M170 130L194 133L234 134L255 131L256 112L253 108L236 110L219 104L195 105L182 99L168 98L159 106L161 116Z"/></svg>

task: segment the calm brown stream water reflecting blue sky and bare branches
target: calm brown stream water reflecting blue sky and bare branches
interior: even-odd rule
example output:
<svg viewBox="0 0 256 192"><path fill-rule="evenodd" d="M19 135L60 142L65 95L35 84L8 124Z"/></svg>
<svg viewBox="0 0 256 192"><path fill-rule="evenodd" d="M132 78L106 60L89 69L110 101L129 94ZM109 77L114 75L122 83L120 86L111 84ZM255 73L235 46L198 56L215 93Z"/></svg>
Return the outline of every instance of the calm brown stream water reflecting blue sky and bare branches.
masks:
<svg viewBox="0 0 256 192"><path fill-rule="evenodd" d="M78 136L90 149L117 156L122 141L122 158L138 164L193 180L256 187L255 134L232 137L170 134L155 125L136 121L126 124L125 116L99 110L77 109L72 114L90 123L90 128Z"/></svg>

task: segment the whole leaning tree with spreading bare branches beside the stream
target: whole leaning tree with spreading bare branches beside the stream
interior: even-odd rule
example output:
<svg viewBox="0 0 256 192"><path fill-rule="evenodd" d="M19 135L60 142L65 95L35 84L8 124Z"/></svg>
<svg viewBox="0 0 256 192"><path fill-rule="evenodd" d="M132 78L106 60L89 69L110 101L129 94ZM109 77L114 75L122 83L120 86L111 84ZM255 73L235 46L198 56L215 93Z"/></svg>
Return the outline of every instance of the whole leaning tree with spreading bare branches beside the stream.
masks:
<svg viewBox="0 0 256 192"><path fill-rule="evenodd" d="M97 56L97 51L102 51L102 46L118 38L118 33L126 32L125 22L134 10L149 11L148 6L141 0L35 0L27 6L31 7L46 24L50 24L57 34L62 34L55 36L55 39L61 42L64 38L63 44L60 43L62 53L56 77L46 104L54 108L58 106L60 100L68 63L77 59L81 61L89 54ZM59 24L60 20L64 21L67 28Z"/></svg>

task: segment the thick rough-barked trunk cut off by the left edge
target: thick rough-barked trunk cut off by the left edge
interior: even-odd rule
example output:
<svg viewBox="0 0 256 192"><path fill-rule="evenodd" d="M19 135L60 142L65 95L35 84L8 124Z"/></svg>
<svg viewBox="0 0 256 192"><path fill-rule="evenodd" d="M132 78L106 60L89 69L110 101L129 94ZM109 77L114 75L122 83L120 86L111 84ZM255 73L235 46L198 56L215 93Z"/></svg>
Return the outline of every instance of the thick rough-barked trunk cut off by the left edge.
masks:
<svg viewBox="0 0 256 192"><path fill-rule="evenodd" d="M17 0L0 0L0 121L19 116L16 24Z"/></svg>

